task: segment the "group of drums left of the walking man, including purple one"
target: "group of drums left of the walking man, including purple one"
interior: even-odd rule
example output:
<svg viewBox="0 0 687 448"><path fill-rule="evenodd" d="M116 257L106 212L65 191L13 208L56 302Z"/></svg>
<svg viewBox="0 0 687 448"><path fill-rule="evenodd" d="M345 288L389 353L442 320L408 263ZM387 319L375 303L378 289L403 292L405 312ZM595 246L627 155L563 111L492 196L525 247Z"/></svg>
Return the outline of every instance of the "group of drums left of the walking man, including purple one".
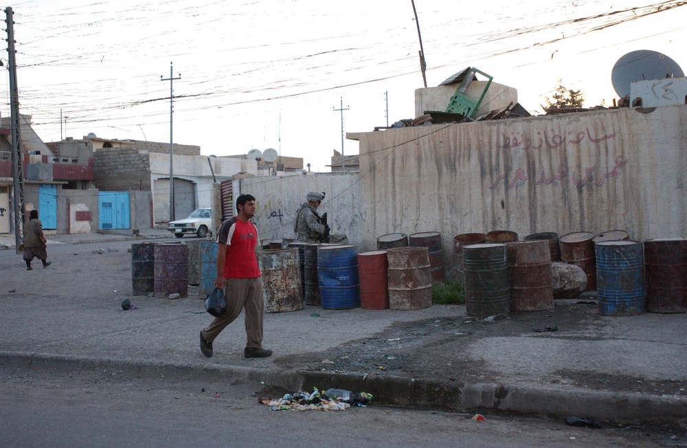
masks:
<svg viewBox="0 0 687 448"><path fill-rule="evenodd" d="M188 297L188 285L198 285L201 297L212 292L217 276L217 243L193 240L188 243L144 241L131 245L133 295Z"/></svg>

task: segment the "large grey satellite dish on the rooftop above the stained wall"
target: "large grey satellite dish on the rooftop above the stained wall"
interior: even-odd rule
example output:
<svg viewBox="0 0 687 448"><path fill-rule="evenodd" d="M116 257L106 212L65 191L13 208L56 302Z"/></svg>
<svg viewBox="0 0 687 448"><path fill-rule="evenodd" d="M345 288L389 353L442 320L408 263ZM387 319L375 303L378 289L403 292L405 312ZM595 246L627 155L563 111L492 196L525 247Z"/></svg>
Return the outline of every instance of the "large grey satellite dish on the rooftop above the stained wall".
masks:
<svg viewBox="0 0 687 448"><path fill-rule="evenodd" d="M630 94L630 83L642 80L682 78L684 72L665 54L650 49L638 49L622 56L611 71L613 89L620 98Z"/></svg>

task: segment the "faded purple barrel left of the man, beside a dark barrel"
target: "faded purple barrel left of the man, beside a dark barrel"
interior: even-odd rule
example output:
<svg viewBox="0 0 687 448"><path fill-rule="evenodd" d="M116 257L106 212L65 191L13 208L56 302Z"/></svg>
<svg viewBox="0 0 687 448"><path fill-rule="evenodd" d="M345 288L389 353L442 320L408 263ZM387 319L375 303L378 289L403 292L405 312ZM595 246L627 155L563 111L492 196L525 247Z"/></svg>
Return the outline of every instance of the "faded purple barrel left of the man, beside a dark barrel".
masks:
<svg viewBox="0 0 687 448"><path fill-rule="evenodd" d="M155 296L188 297L188 246L156 243L154 251Z"/></svg>

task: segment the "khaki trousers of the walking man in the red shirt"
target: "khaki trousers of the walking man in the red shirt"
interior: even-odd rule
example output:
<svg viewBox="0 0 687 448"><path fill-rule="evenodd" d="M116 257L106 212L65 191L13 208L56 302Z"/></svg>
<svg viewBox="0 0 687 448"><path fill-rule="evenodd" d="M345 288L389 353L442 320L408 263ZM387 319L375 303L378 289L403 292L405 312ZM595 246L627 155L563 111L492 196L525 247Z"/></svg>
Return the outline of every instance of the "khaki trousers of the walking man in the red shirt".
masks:
<svg viewBox="0 0 687 448"><path fill-rule="evenodd" d="M203 329L203 338L212 342L245 309L246 348L262 348L262 277L227 278L224 283L227 298L227 314L215 317L210 326Z"/></svg>

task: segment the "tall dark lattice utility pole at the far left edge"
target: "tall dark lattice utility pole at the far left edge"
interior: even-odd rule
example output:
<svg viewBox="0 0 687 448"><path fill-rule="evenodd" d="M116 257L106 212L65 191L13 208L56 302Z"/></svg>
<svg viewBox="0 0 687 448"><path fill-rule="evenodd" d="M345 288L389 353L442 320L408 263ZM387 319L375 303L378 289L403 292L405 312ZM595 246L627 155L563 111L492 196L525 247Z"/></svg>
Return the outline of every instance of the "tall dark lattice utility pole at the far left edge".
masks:
<svg viewBox="0 0 687 448"><path fill-rule="evenodd" d="M24 173L21 159L21 133L19 129L19 89L16 87L16 50L14 49L14 19L12 8L5 8L7 14L7 52L10 71L10 132L12 133L12 190L14 192L14 250L19 254L21 229L23 228L24 209Z"/></svg>

